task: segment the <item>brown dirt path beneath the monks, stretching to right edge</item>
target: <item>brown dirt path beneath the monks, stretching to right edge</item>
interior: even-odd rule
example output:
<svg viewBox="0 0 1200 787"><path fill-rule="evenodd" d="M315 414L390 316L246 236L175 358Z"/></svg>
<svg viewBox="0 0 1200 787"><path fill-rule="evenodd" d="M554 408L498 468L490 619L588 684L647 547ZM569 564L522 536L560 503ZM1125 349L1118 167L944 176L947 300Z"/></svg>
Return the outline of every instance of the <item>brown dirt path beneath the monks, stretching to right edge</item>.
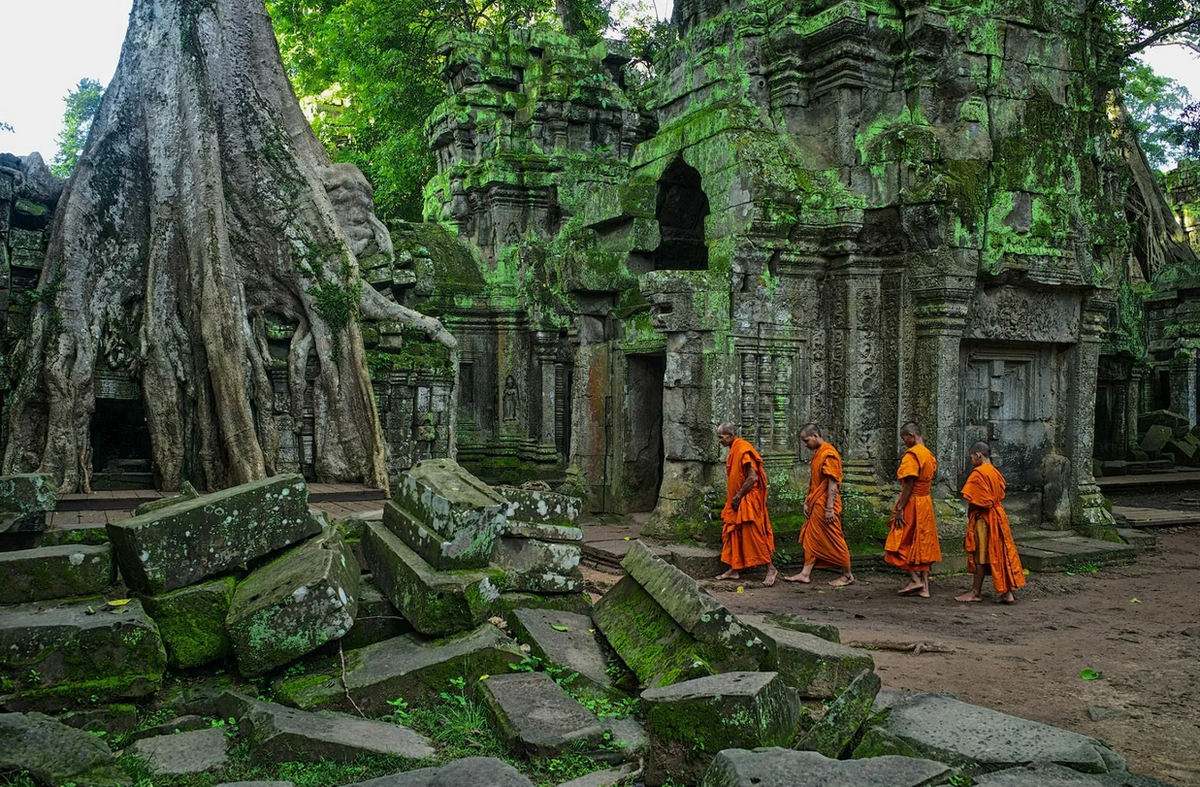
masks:
<svg viewBox="0 0 1200 787"><path fill-rule="evenodd" d="M749 581L758 575L748 575L743 593L738 583L706 584L734 612L802 614L838 625L842 642L947 648L876 650L884 687L948 691L1096 735L1128 758L1129 770L1200 787L1200 528L1158 536L1158 551L1138 565L1031 575L1012 607L955 603L970 585L965 576L935 579L930 600L898 597L902 581L890 573L840 590L763 588ZM1082 680L1085 667L1102 677ZM1093 721L1090 707L1117 716Z"/></svg>

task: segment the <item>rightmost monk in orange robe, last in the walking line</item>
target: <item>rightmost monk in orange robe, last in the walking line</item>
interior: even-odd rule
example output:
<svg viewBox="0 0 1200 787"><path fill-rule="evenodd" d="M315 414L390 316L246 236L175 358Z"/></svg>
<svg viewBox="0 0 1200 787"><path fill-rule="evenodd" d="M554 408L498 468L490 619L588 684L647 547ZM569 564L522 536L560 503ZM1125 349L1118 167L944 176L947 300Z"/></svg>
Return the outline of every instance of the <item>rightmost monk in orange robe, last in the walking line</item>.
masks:
<svg viewBox="0 0 1200 787"><path fill-rule="evenodd" d="M1025 585L1025 571L1016 554L1013 531L1008 527L1008 515L1001 503L1004 499L1004 476L991 463L991 446L976 443L971 446L971 464L974 470L962 486L962 498L967 501L967 570L974 573L970 593L956 596L955 601L983 601L983 578L991 572L997 601L1013 603L1013 590Z"/></svg>

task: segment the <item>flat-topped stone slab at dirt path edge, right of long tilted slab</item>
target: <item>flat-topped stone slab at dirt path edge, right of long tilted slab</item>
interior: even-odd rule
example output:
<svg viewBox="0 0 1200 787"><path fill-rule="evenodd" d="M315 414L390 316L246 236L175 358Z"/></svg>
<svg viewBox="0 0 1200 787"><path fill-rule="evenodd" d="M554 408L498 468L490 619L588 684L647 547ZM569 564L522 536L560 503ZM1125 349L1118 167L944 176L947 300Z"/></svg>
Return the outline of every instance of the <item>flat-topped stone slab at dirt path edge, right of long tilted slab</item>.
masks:
<svg viewBox="0 0 1200 787"><path fill-rule="evenodd" d="M875 660L865 650L781 629L760 615L745 615L744 620L768 643L769 663L802 697L835 697L838 689L848 686L863 669L875 669Z"/></svg>

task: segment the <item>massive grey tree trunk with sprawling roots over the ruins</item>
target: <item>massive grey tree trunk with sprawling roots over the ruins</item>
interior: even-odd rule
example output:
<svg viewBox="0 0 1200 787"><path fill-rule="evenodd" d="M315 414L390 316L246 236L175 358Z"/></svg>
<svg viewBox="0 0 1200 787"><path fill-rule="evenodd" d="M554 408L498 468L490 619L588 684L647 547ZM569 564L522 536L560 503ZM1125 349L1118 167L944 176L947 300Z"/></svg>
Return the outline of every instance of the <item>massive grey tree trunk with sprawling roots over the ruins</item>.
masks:
<svg viewBox="0 0 1200 787"><path fill-rule="evenodd" d="M275 471L264 323L287 353L299 428L316 350L316 471L386 486L358 318L431 318L359 278L390 253L370 186L330 166L300 112L263 0L134 0L116 74L59 203L7 473L89 488L97 371L140 382L158 483L220 488ZM106 372L107 373L107 372Z"/></svg>

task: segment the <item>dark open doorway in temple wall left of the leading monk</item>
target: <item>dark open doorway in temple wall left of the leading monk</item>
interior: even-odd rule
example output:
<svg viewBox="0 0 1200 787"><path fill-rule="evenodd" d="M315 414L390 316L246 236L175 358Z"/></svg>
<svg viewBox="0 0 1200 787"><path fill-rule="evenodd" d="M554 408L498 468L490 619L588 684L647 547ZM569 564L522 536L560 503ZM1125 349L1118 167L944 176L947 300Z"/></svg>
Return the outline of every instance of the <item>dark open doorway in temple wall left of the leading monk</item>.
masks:
<svg viewBox="0 0 1200 787"><path fill-rule="evenodd" d="M662 485L664 355L626 356L622 499L617 510L650 511Z"/></svg>

